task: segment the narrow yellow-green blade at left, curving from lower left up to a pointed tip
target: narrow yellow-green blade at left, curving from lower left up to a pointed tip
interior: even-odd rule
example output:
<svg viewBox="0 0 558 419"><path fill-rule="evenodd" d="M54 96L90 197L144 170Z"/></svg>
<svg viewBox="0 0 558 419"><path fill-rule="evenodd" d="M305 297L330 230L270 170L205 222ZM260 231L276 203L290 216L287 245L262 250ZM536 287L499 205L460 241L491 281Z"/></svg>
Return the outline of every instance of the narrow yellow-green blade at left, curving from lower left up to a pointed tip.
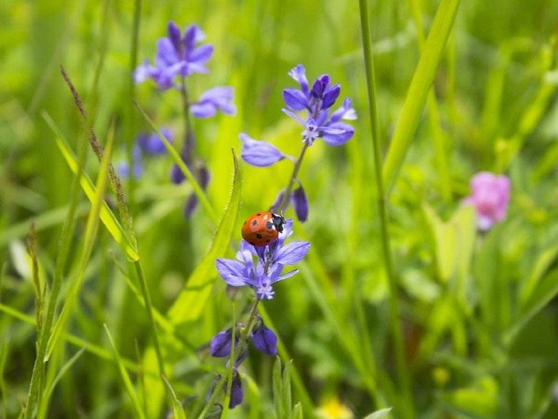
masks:
<svg viewBox="0 0 558 419"><path fill-rule="evenodd" d="M56 324L54 324L54 328L52 329L52 333L49 337L49 341L47 344L47 352L45 354L45 360L49 359L49 356L52 353L54 346L56 346L56 343L58 343L58 340L60 339L62 332L65 331L67 322L69 321L69 317L71 316L73 312L73 308L78 300L82 282L85 277L85 269L87 267L87 263L89 262L89 258L91 257L91 252L93 251L93 245L95 244L95 237L97 236L97 229L99 227L100 210L102 208L102 204L105 203L103 199L103 195L107 183L108 164L111 161L113 140L114 140L114 125L111 126L111 129L108 133L105 154L101 162L99 174L97 175L97 186L95 188L94 197L91 201L92 202L91 211L89 212L89 216L87 218L83 251L79 262L78 273L76 275L75 280L73 280L70 286L65 304L62 308L62 312L60 313L60 317L58 317L58 319L56 320Z"/></svg>

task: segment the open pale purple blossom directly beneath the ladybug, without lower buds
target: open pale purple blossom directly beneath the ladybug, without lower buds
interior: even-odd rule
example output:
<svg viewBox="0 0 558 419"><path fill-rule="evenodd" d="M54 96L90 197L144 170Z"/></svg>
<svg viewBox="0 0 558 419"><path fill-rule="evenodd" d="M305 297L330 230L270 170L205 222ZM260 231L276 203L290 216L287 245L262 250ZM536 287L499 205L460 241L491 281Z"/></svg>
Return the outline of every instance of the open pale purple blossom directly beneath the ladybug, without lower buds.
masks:
<svg viewBox="0 0 558 419"><path fill-rule="evenodd" d="M298 272L298 269L294 269L281 275L283 267L300 262L310 249L310 243L304 241L284 245L291 234L292 220L288 219L279 238L266 247L256 248L242 240L236 260L216 260L219 274L231 286L250 286L258 299L272 299L275 295L272 285ZM258 258L256 263L253 256Z"/></svg>

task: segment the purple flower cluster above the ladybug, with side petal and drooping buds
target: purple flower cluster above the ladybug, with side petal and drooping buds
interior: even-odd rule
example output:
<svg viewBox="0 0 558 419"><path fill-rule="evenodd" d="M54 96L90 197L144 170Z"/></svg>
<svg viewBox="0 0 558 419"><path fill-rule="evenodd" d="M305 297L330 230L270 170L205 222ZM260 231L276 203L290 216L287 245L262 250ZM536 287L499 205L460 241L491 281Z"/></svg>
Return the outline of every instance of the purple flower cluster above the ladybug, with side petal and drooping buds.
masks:
<svg viewBox="0 0 558 419"><path fill-rule="evenodd" d="M303 127L301 136L304 144L301 157L295 159L283 154L281 150L266 141L259 141L241 133L242 158L253 166L271 166L283 159L290 159L299 166L305 148L312 146L316 139L323 139L330 146L341 146L349 141L355 133L353 126L342 122L342 120L357 119L350 98L345 98L341 106L330 114L332 106L341 93L340 84L331 84L329 75L323 74L314 80L312 88L310 88L306 70L301 64L290 70L288 74L299 83L300 88L283 89L283 100L287 106L282 111ZM306 112L304 117L297 113L301 111ZM308 216L308 200L301 181L299 179L293 179L293 181L298 183L298 188L294 190L288 188L287 192L290 194L288 199L284 199L286 190L279 192L276 203L272 205L272 210L286 210L286 207L292 203L297 218L305 221Z"/></svg>

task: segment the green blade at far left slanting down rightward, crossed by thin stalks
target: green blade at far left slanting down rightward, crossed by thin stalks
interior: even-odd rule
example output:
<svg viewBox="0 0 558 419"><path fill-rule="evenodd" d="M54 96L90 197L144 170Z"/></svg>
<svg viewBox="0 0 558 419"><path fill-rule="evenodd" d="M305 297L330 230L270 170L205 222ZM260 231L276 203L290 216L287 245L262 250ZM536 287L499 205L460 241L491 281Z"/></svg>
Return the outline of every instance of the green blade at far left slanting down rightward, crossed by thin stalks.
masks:
<svg viewBox="0 0 558 419"><path fill-rule="evenodd" d="M54 121L51 117L46 113L43 112L43 118L49 124L52 131L55 133L54 139L56 140L56 145L62 152L62 156L66 160L70 170L75 174L78 172L78 159L75 158L73 151L71 150L67 139L65 139L64 135L62 135L62 131L54 124ZM95 188L93 187L93 183L91 179L83 173L80 177L80 184L82 185L82 189L85 192L89 201L93 203L95 200ZM139 254L137 253L137 249L134 245L132 245L131 240L126 237L126 233L124 233L124 229L118 222L115 214L111 211L111 208L108 207L107 203L103 200L101 203L101 207L99 210L99 218L101 219L102 223L105 225L108 232L113 236L115 241L121 247L122 251L126 253L128 259L132 262L139 259Z"/></svg>

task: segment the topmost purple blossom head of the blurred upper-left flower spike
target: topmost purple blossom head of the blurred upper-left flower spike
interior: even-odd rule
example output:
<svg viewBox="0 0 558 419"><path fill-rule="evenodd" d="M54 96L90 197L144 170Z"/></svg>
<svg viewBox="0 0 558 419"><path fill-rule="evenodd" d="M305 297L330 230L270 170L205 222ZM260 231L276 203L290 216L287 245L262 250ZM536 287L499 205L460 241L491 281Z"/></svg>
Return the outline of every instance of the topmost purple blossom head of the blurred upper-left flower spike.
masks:
<svg viewBox="0 0 558 419"><path fill-rule="evenodd" d="M134 71L134 80L141 83L148 78L155 80L161 89L174 87L174 78L179 74L207 73L205 63L213 54L211 44L196 46L205 34L198 25L189 25L182 35L174 22L168 23L168 37L159 38L155 65L145 60Z"/></svg>

